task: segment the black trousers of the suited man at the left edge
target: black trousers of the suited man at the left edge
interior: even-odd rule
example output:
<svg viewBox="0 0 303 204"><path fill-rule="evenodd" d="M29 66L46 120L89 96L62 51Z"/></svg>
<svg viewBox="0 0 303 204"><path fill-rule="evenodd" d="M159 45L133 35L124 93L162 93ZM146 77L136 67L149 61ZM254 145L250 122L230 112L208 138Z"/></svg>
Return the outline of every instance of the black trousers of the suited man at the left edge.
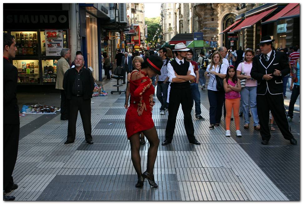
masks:
<svg viewBox="0 0 303 204"><path fill-rule="evenodd" d="M3 125L3 190L11 190L14 171L18 155L20 125Z"/></svg>

